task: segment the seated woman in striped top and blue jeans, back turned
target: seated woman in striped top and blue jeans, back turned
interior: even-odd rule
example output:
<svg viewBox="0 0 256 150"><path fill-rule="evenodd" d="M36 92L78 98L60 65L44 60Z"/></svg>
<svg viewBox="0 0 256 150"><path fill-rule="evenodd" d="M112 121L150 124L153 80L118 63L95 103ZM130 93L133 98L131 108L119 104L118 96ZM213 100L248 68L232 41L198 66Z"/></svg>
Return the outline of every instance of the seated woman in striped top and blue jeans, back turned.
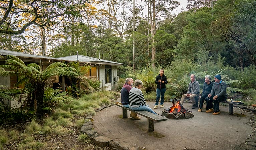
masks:
<svg viewBox="0 0 256 150"><path fill-rule="evenodd" d="M143 83L141 80L134 81L134 87L129 92L129 108L132 110L146 110L153 114L155 113L147 104L141 91Z"/></svg>

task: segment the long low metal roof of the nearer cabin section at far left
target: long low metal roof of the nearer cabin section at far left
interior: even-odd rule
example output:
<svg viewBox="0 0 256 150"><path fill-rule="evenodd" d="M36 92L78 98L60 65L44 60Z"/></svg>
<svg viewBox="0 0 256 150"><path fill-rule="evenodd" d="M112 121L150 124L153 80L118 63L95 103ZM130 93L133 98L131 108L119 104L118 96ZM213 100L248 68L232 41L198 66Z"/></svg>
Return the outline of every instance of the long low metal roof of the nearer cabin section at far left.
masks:
<svg viewBox="0 0 256 150"><path fill-rule="evenodd" d="M13 56L16 56L16 57L24 57L24 58L50 59L50 60L63 61L62 59L54 58L54 57L33 55L33 54L28 54L28 53L21 53L21 52L15 52L15 51L8 51L8 50L2 50L2 49L0 49L0 55L5 55L5 56L6 56L6 55L13 55Z"/></svg>

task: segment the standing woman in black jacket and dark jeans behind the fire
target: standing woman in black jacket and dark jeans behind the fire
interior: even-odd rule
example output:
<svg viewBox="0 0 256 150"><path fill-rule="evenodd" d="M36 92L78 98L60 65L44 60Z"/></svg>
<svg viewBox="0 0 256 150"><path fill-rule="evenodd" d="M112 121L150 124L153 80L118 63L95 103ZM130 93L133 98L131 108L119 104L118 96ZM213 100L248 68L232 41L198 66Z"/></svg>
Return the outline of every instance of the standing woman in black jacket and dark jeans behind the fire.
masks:
<svg viewBox="0 0 256 150"><path fill-rule="evenodd" d="M168 83L166 76L164 75L164 69L160 69L159 75L156 77L155 83L157 84L157 98L154 108L158 107L159 98L161 95L160 107L164 108L164 96L165 96L165 84Z"/></svg>

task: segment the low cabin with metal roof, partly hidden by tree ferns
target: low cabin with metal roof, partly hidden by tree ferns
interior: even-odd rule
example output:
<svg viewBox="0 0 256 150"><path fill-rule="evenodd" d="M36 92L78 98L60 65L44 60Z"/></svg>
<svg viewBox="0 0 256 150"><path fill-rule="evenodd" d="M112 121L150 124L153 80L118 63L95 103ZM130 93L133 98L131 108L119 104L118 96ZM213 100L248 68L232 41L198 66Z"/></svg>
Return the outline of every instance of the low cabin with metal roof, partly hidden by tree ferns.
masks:
<svg viewBox="0 0 256 150"><path fill-rule="evenodd" d="M8 51L8 50L2 50L2 49L0 49L0 55L4 56L4 58L0 58L0 65L5 64L5 60L6 60L5 56L13 55L21 59L26 65L30 63L36 63L43 70L46 69L50 64L54 62L65 62L65 63L79 62L80 66L90 65L91 69L88 75L96 76L101 81L100 87L106 90L111 90L117 86L117 81L119 80L119 77L117 76L117 66L123 65L122 63L97 59L97 58L83 56L83 55L53 58L48 56L33 55L33 54ZM15 83L17 82L17 79L18 79L17 76L0 77L0 85L14 87ZM54 77L51 77L50 79L53 80L53 82L51 82L52 87L54 83L58 83L63 90L65 89L64 77L54 76ZM14 102L14 101L11 101L11 103L6 102L6 104L7 103L9 103L10 107L15 107L18 105L17 102Z"/></svg>

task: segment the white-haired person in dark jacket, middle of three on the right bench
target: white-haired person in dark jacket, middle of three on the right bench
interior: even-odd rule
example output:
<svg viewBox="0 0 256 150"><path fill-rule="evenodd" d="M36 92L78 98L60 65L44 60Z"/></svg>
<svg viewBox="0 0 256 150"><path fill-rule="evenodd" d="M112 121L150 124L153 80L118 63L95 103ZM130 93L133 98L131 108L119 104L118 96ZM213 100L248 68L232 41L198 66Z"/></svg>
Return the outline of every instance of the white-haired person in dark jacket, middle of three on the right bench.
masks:
<svg viewBox="0 0 256 150"><path fill-rule="evenodd" d="M212 86L213 86L213 82L211 81L211 79L212 79L211 76L209 76L209 75L205 76L205 82L204 82L204 85L203 85L203 92L202 92L202 96L200 97L200 104L199 104L199 109L198 109L197 112L202 111L204 101L207 102L208 94L211 93ZM209 108L206 105L206 110L208 110L208 109Z"/></svg>

